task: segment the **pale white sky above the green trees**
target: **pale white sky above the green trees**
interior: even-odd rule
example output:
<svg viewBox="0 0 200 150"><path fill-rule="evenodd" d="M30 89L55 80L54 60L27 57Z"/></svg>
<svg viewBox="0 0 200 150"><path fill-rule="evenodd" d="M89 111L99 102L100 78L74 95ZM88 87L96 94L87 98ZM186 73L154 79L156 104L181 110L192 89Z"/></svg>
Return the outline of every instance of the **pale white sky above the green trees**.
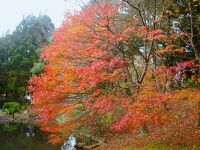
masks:
<svg viewBox="0 0 200 150"><path fill-rule="evenodd" d="M66 11L80 10L81 1L89 0L0 0L0 35L12 32L29 14L47 14L58 27Z"/></svg>

